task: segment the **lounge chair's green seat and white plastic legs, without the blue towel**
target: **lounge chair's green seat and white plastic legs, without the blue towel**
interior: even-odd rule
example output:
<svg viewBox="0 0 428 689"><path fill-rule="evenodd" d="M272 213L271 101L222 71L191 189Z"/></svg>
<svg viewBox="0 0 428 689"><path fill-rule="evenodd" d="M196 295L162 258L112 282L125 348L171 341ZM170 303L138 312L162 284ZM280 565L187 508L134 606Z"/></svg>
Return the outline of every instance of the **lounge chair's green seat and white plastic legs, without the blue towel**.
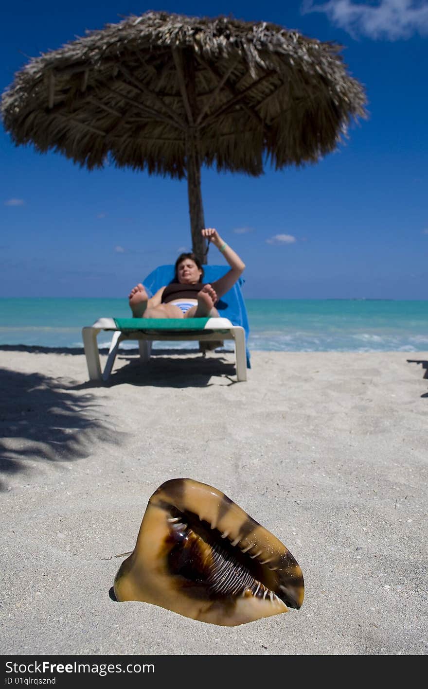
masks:
<svg viewBox="0 0 428 689"><path fill-rule="evenodd" d="M114 331L107 362L101 371L97 336L101 330ZM108 380L119 345L123 340L138 340L142 362L150 359L153 340L234 340L238 381L247 380L245 330L227 318L99 318L82 329L83 347L90 380Z"/></svg>

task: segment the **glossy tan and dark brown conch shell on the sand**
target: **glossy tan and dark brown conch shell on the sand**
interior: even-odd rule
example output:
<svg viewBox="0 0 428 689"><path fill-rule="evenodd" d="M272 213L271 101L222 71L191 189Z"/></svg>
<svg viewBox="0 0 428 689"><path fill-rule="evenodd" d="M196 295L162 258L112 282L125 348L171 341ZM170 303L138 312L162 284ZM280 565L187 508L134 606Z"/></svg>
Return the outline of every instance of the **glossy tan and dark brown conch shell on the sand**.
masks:
<svg viewBox="0 0 428 689"><path fill-rule="evenodd" d="M281 541L227 495L189 478L167 481L150 497L134 551L114 579L119 601L225 626L300 608L304 591L302 570Z"/></svg>

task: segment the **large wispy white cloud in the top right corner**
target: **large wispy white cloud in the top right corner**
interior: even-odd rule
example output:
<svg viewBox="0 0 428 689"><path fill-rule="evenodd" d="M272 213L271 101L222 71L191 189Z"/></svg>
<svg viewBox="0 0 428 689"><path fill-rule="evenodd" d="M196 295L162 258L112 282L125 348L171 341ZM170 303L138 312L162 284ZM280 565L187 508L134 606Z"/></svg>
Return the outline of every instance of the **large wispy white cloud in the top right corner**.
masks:
<svg viewBox="0 0 428 689"><path fill-rule="evenodd" d="M427 0L328 0L321 5L303 0L302 11L325 12L332 23L354 37L396 41L428 34Z"/></svg>

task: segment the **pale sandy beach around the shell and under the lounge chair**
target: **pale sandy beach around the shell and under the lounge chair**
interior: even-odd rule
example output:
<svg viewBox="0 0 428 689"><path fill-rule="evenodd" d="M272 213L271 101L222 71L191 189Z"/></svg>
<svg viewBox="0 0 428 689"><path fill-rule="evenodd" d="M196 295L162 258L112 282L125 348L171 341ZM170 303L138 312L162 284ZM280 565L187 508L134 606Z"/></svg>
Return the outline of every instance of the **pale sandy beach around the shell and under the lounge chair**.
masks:
<svg viewBox="0 0 428 689"><path fill-rule="evenodd" d="M425 655L428 352L0 348L5 655ZM165 480L223 491L289 548L300 610L215 626L109 596Z"/></svg>

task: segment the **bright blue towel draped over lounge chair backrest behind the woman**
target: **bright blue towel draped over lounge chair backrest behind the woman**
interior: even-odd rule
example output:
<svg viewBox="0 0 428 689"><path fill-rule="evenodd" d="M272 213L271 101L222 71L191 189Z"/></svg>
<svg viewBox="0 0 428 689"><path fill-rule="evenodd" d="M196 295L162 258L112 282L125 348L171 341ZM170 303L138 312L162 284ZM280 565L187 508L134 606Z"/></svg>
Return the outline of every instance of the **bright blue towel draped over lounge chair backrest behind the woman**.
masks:
<svg viewBox="0 0 428 689"><path fill-rule="evenodd" d="M225 275L229 268L223 265L204 265L204 276L203 282L214 282ZM174 266L173 265L160 265L155 268L154 271L147 275L147 278L143 280L143 285L145 289L149 292L150 296L163 287L163 285L168 285L174 280ZM243 278L239 278L235 282L234 286L223 294L220 300L216 303L216 309L218 311L218 316L223 318L229 318L232 325L241 325L245 330L245 342L248 340L249 336L249 324L247 309L245 307L245 302L243 294L241 291L241 285L243 285ZM249 369L249 349L247 344L245 345L247 352L247 368Z"/></svg>

